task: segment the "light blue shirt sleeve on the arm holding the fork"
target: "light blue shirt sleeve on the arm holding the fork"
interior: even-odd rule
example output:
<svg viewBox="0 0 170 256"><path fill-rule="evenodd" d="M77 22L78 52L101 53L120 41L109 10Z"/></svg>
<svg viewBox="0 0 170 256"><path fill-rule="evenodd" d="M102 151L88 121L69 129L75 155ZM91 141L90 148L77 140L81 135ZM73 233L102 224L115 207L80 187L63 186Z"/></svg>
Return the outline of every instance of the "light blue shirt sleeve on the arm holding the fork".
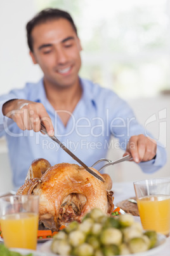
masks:
<svg viewBox="0 0 170 256"><path fill-rule="evenodd" d="M114 94L114 101L112 99L112 103L110 104L112 104L112 108L114 109L112 119L110 120L110 132L119 139L120 148L126 150L129 139L134 135L144 134L145 136L150 136L150 138L155 139L150 132L145 130L143 125L138 123L138 120L136 120L133 110L131 110L128 103ZM143 172L154 173L166 164L166 160L167 154L165 147L160 145L160 143L157 143L157 154L155 159L147 162L140 162L138 165Z"/></svg>

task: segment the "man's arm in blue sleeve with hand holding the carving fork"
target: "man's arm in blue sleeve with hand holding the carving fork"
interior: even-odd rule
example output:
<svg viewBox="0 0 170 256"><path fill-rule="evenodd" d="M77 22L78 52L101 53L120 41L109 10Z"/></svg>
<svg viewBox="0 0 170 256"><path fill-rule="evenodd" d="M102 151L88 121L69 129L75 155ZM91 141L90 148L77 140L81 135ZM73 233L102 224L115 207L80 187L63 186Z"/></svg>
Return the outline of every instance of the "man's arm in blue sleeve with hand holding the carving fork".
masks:
<svg viewBox="0 0 170 256"><path fill-rule="evenodd" d="M112 109L111 133L119 139L124 155L131 153L134 162L146 173L164 166L167 160L164 146L151 139L152 135L138 123L129 105L113 92L107 96L106 106Z"/></svg>

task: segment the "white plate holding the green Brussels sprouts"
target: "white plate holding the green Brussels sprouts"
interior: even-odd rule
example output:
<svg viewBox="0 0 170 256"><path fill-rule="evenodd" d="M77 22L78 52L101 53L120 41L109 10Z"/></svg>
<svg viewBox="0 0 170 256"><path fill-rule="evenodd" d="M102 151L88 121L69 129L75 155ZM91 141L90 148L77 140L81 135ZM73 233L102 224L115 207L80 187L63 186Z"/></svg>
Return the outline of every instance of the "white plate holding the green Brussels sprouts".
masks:
<svg viewBox="0 0 170 256"><path fill-rule="evenodd" d="M160 252L160 250L162 251L162 248L166 245L166 241L167 241L166 236L164 236L162 234L158 234L158 242L157 242L157 245L154 248L152 248L152 249L150 249L146 252L128 254L126 256L132 256L132 255L133 256L150 256L150 255L155 255L155 253ZM51 256L52 255L56 256L56 254L51 252L51 249L50 249L51 243L52 243L52 241L48 241L48 242L44 243L41 246L40 250L41 250L41 252L48 253L48 255L49 255L49 253L51 253Z"/></svg>

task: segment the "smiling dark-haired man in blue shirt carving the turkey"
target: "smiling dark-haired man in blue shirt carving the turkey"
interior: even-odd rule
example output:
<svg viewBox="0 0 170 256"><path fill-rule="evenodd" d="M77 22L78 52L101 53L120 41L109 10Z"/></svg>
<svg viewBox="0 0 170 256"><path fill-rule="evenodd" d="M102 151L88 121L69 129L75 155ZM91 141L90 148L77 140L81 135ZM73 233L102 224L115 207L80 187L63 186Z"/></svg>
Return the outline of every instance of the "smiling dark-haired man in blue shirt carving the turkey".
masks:
<svg viewBox="0 0 170 256"><path fill-rule="evenodd" d="M75 162L47 136L58 139L88 166L105 157L110 136L148 173L166 162L164 148L145 136L133 112L114 92L79 78L81 42L69 13L47 9L27 24L30 57L44 77L1 96L1 136L6 135L15 187L36 158L51 165ZM55 129L54 129L55 128ZM114 157L113 157L114 159Z"/></svg>

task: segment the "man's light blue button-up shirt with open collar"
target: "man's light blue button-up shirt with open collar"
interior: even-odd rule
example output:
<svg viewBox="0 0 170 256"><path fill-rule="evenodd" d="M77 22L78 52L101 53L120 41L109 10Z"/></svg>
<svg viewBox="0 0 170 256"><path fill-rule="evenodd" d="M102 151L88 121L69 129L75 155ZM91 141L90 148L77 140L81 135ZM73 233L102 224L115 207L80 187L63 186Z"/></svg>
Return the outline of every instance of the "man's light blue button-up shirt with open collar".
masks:
<svg viewBox="0 0 170 256"><path fill-rule="evenodd" d="M125 150L131 136L145 134L131 108L117 94L89 80L80 78L80 82L82 97L70 113L66 127L46 97L43 79L0 97L0 136L6 136L15 187L23 185L30 164L37 158L47 159L51 166L60 162L77 162L48 136L41 132L22 131L13 120L4 117L2 106L10 99L42 103L53 122L55 136L88 166L106 157L108 148L115 147L110 141L111 135L119 139L119 146ZM114 155L111 160L114 160ZM139 165L143 171L152 173L165 163L165 149L158 145L156 159Z"/></svg>

